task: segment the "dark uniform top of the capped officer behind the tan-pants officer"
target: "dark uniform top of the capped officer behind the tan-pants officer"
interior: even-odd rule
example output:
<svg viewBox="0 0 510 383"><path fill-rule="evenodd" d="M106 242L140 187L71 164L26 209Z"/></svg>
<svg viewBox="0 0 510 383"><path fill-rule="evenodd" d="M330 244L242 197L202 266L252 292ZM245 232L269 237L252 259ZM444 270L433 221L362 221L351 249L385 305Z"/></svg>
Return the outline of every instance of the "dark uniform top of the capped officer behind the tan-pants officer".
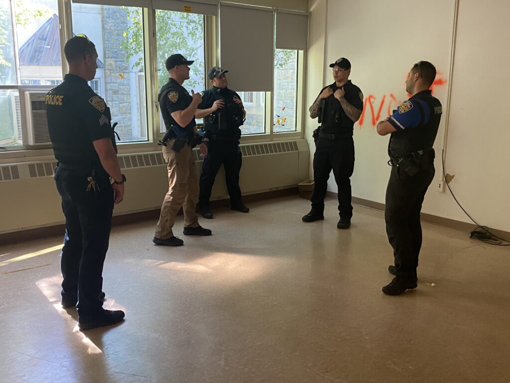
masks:
<svg viewBox="0 0 510 383"><path fill-rule="evenodd" d="M213 106L216 100L224 100L224 106L211 113L203 119L204 129L214 134L237 134L239 126L243 125L245 111L242 105L234 101L234 97L241 99L239 94L228 88L218 88L213 86L211 89L200 92L202 102L198 105L198 109L208 109ZM224 117L220 129L220 113Z"/></svg>

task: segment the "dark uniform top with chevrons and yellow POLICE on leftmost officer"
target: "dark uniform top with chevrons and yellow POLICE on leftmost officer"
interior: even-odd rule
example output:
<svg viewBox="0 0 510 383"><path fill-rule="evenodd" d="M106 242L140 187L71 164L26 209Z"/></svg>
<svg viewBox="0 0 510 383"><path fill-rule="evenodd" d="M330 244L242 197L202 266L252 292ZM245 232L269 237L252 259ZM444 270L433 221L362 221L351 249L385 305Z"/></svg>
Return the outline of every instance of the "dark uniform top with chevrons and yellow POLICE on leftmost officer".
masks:
<svg viewBox="0 0 510 383"><path fill-rule="evenodd" d="M64 82L46 95L49 137L55 158L65 169L80 173L95 170L106 175L93 141L115 137L110 108L80 76L66 75Z"/></svg>

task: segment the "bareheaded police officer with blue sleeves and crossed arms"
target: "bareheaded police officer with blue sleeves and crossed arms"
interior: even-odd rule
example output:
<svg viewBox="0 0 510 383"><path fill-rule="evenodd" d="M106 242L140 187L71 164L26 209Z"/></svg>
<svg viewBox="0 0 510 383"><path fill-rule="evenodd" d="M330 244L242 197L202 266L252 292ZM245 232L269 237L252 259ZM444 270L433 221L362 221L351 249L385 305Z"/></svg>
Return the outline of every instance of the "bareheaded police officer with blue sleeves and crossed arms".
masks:
<svg viewBox="0 0 510 383"><path fill-rule="evenodd" d="M422 242L420 211L435 173L432 146L443 112L441 102L429 90L435 78L436 68L431 63L416 63L405 81L405 90L412 97L377 124L380 135L391 133L388 154L392 168L386 189L385 220L395 257L395 265L388 271L395 278L382 288L387 295L417 287Z"/></svg>

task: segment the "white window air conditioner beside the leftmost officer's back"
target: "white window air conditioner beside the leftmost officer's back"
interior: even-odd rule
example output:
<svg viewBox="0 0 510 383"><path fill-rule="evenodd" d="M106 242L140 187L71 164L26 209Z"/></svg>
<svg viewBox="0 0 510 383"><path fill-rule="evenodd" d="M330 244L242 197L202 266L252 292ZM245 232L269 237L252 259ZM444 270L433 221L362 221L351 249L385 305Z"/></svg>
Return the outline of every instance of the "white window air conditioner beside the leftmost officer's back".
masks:
<svg viewBox="0 0 510 383"><path fill-rule="evenodd" d="M27 110L27 143L31 146L51 145L46 117L47 91L25 92Z"/></svg>

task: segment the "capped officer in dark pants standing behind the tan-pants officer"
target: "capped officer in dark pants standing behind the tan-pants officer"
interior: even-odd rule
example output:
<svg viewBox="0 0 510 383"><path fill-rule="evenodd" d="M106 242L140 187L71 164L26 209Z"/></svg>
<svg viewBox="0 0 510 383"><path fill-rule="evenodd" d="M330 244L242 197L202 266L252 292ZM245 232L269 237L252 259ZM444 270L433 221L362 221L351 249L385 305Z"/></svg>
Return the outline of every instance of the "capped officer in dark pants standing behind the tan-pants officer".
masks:
<svg viewBox="0 0 510 383"><path fill-rule="evenodd" d="M208 155L203 160L200 175L200 197L198 208L203 218L213 218L209 209L209 199L214 179L221 164L225 167L225 180L232 210L247 213L241 200L239 172L242 156L239 150L239 138L246 112L239 94L228 89L225 73L228 70L219 66L209 70L212 89L202 92L202 102L198 105L195 117L203 118L205 138L208 140Z"/></svg>

